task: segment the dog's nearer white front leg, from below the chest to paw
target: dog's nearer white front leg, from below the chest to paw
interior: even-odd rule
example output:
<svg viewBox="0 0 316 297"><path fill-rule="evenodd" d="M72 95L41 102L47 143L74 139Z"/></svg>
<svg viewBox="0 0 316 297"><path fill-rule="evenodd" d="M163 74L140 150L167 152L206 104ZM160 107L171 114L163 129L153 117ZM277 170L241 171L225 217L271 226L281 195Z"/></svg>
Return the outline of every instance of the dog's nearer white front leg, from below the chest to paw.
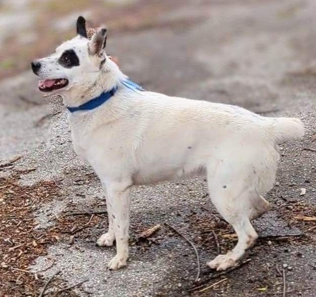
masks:
<svg viewBox="0 0 316 297"><path fill-rule="evenodd" d="M129 201L131 183L111 183L107 186L108 204L111 207L116 240L116 256L109 262L109 269L124 267L128 258Z"/></svg>

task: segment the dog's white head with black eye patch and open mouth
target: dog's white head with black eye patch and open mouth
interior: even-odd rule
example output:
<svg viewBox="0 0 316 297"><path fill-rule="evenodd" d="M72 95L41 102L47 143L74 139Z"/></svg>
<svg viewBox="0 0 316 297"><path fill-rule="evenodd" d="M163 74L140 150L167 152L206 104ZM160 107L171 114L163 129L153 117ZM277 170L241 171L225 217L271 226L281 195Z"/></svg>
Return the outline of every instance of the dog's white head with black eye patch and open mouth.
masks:
<svg viewBox="0 0 316 297"><path fill-rule="evenodd" d="M99 28L88 39L85 19L77 19L77 36L59 46L49 57L32 62L32 70L40 77L42 92L63 94L74 87L91 88L109 60L105 53L106 29Z"/></svg>

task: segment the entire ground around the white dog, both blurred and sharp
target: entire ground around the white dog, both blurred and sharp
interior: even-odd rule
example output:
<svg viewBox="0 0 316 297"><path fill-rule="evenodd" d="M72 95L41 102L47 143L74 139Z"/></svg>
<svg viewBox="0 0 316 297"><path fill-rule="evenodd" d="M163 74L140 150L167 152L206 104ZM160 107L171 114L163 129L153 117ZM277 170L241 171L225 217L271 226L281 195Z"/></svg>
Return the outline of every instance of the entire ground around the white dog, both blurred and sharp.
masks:
<svg viewBox="0 0 316 297"><path fill-rule="evenodd" d="M104 194L92 169L73 152L60 98L46 100L38 91L30 62L75 36L79 15L88 27L107 26L107 53L147 90L303 120L304 139L281 146L278 183L267 195L273 210L255 222L259 235L271 241L260 241L247 254L252 261L215 291L192 294L280 294L283 279L277 266L286 270L291 295L315 296L315 231L309 228L316 219L316 155L314 149L301 149L314 146L316 139L315 0L0 0L0 202L9 205L0 207L0 217L5 217L0 237L16 242L10 245L0 238L0 272L5 277L0 295L38 295L60 269L63 283L55 282L52 290L88 279L74 289L78 295L185 296L196 273L191 246L165 227L153 242L140 243L137 236L169 219L197 245L204 284L210 284L205 262L218 252L210 230L222 250L236 240L227 224L220 226L209 215L213 211L216 218L203 180L133 190L132 259L115 274L106 270L114 249L95 247L106 215L88 221L89 216L65 214L91 209L105 213L100 204ZM6 198L6 204L3 197L11 200ZM24 223L16 222L18 233L11 207L43 231L23 230ZM80 226L86 229L69 236ZM276 239L300 232L308 239ZM25 250L8 251L24 241ZM34 279L28 269L44 272Z"/></svg>

